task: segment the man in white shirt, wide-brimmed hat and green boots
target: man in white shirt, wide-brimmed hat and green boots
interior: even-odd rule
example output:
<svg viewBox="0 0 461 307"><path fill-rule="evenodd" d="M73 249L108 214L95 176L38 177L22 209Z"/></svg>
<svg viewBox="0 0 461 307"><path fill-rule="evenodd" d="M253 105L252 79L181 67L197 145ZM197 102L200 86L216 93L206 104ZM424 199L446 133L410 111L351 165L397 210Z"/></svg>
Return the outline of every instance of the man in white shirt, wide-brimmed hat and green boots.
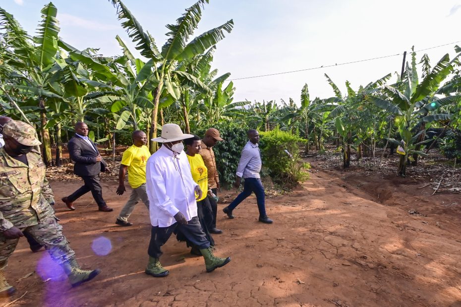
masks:
<svg viewBox="0 0 461 307"><path fill-rule="evenodd" d="M182 140L191 138L183 134L176 124L165 124L162 136L152 141L163 146L147 160L146 186L149 197L149 212L152 224L146 274L154 277L167 276L170 272L160 264L161 247L173 231L180 231L189 242L200 250L205 258L207 272L226 265L230 257L213 255L197 217L196 198L202 190L192 179L190 165L184 153Z"/></svg>

